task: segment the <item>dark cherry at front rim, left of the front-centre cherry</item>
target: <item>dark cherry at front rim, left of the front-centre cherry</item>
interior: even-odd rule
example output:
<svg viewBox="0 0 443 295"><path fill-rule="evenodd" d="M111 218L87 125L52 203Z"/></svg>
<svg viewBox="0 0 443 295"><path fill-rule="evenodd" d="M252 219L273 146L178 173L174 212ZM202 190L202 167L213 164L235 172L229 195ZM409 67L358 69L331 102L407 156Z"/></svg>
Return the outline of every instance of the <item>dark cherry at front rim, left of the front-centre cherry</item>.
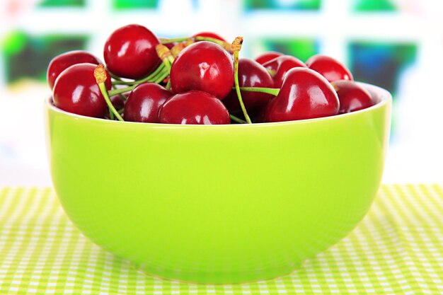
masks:
<svg viewBox="0 0 443 295"><path fill-rule="evenodd" d="M125 121L159 123L159 110L171 96L172 93L159 84L140 84L127 98Z"/></svg>

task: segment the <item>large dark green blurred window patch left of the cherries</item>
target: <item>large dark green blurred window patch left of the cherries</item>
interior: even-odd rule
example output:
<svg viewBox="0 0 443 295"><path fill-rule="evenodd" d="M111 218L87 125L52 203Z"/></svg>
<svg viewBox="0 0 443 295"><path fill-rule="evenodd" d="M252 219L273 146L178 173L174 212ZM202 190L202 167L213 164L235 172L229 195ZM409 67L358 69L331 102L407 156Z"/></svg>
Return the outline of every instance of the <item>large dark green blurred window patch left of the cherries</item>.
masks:
<svg viewBox="0 0 443 295"><path fill-rule="evenodd" d="M4 55L6 83L21 79L46 80L51 59L69 50L84 50L85 35L31 36L21 31L10 33L1 46Z"/></svg>

